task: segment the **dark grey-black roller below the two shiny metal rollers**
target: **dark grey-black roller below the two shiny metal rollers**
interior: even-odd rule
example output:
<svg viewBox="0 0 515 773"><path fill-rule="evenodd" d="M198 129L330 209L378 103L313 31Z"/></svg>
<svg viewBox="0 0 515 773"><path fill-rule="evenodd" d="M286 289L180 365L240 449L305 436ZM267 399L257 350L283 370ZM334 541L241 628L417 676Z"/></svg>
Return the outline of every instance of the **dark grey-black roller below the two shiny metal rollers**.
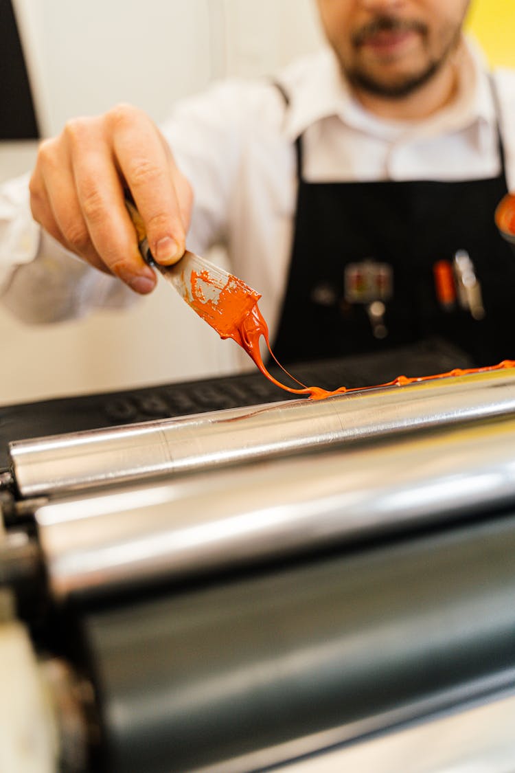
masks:
<svg viewBox="0 0 515 773"><path fill-rule="evenodd" d="M224 770L513 669L514 556L509 516L90 613L103 769Z"/></svg>

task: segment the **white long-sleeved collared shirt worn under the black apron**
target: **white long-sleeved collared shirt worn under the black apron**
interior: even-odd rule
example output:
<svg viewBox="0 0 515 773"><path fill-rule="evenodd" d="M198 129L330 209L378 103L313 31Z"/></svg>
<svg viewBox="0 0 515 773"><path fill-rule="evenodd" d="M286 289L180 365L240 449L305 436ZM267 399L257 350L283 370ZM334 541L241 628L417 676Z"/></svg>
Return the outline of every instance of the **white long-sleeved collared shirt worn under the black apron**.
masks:
<svg viewBox="0 0 515 773"><path fill-rule="evenodd" d="M303 136L303 172L311 182L463 180L500 172L493 94L470 43L459 62L456 99L422 122L384 121L365 111L330 49L294 63L278 80L290 95L288 108L271 81L232 80L178 104L162 127L195 192L188 247L202 254L225 244L231 270L263 295L259 305L272 337L290 259L296 137ZM499 70L495 81L508 185L515 188L515 73ZM47 234L40 237L26 179L0 189L0 287L2 281L5 304L31 322L134 298Z"/></svg>

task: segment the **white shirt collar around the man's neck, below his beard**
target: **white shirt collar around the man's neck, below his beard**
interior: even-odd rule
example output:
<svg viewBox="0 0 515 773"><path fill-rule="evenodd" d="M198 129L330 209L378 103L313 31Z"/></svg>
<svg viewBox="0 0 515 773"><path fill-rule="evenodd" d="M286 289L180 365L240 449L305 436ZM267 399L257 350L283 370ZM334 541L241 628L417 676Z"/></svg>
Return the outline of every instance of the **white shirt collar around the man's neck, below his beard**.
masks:
<svg viewBox="0 0 515 773"><path fill-rule="evenodd" d="M483 53L467 36L459 59L459 88L456 99L425 121L384 121L366 111L354 98L341 73L337 58L324 48L289 68L281 78L290 95L284 131L291 141L307 128L328 117L339 117L344 124L378 135L435 136L459 131L476 122L496 126L496 107Z"/></svg>

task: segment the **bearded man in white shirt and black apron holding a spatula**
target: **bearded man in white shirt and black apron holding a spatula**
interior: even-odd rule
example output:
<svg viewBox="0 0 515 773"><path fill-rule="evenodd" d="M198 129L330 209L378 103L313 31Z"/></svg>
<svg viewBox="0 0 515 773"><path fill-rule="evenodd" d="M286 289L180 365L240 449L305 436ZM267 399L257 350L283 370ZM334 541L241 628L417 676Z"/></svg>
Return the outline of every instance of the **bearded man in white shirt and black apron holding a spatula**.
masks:
<svg viewBox="0 0 515 773"><path fill-rule="evenodd" d="M162 131L115 107L43 143L30 183L39 257L15 271L5 303L58 318L75 313L73 294L107 300L111 282L64 250L150 292L127 186L158 262L186 243L226 244L285 362L433 335L478 365L515 356L515 257L493 222L515 174L504 162L515 77L490 80L463 39L466 0L317 3L331 51L278 84L215 87ZM59 271L41 269L50 251L57 260L47 234L64 248ZM41 302L29 308L31 274Z"/></svg>

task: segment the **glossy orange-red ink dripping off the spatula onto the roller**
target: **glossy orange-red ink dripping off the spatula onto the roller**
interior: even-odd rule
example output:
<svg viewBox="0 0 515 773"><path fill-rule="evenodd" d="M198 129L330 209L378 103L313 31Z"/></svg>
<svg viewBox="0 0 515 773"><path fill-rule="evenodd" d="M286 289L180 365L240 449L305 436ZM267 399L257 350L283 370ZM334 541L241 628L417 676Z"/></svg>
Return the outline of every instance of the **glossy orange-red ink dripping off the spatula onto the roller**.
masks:
<svg viewBox="0 0 515 773"><path fill-rule="evenodd" d="M210 288L213 289L212 297L210 297ZM208 271L202 271L200 274L196 274L195 271L191 272L191 293L192 298L188 300L189 304L199 316L205 319L205 322L208 322L208 325L211 325L218 332L220 338L232 338L256 363L263 376L266 376L269 381L279 386L280 389L293 394L307 395L311 400L323 400L325 397L332 397L345 392L355 392L363 388L374 389L377 386L405 386L405 384L440 379L446 376L466 376L469 373L486 373L491 370L515 367L515 360L504 359L498 365L469 369L455 368L447 373L437 373L433 376L415 376L414 378L397 376L393 381L378 384L377 386L353 389L341 386L337 390L330 391L324 390L320 386L305 386L297 382L302 388L293 389L291 386L286 386L286 384L276 380L266 369L265 363L263 363L263 357L259 349L261 338L265 340L266 346L277 365L283 369L286 375L296 381L276 360L270 348L268 325L257 305L257 301L261 298L259 293L252 290L241 279L232 275L229 275L229 281L226 284L223 286L218 285L212 280Z"/></svg>

